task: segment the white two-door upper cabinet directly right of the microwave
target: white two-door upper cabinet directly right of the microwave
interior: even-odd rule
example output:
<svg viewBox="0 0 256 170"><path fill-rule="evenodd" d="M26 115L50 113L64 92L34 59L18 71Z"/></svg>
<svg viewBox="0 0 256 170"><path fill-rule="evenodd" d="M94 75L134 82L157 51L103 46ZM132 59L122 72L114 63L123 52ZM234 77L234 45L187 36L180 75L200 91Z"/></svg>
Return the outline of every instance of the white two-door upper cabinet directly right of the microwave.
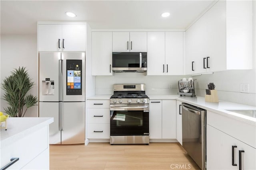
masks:
<svg viewBox="0 0 256 170"><path fill-rule="evenodd" d="M148 32L147 75L183 75L183 32Z"/></svg>

